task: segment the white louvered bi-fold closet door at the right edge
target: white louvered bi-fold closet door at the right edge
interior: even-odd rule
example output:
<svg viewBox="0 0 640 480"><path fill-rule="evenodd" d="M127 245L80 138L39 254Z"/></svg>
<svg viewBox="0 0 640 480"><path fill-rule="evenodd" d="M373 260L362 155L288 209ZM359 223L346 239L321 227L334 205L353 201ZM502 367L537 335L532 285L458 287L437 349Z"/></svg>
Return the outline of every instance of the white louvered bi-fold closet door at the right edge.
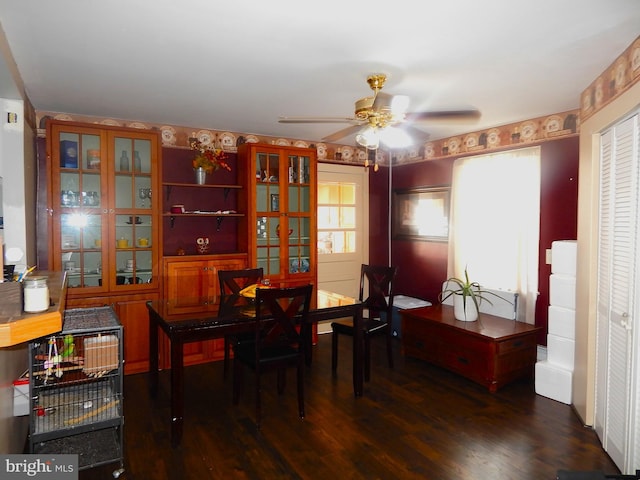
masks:
<svg viewBox="0 0 640 480"><path fill-rule="evenodd" d="M638 116L601 138L595 428L622 470L634 468L632 381L638 240Z"/></svg>

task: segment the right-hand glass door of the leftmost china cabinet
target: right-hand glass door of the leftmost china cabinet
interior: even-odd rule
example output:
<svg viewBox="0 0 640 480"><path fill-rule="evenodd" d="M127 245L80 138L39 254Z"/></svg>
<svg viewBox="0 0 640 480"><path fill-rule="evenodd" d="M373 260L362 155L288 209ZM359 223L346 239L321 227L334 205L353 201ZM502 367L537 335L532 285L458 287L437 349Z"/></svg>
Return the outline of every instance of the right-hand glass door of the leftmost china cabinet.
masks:
<svg viewBox="0 0 640 480"><path fill-rule="evenodd" d="M154 281L151 141L133 136L114 136L110 141L114 152L110 285L118 289L149 284Z"/></svg>

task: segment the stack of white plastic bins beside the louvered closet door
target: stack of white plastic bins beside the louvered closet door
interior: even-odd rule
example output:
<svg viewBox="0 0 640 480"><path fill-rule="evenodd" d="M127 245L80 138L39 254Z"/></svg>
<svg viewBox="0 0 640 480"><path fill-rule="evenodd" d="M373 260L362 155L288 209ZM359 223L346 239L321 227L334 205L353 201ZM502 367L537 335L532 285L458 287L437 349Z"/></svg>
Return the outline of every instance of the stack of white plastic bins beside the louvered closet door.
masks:
<svg viewBox="0 0 640 480"><path fill-rule="evenodd" d="M576 332L575 240L551 244L547 358L536 363L536 393L571 404Z"/></svg>

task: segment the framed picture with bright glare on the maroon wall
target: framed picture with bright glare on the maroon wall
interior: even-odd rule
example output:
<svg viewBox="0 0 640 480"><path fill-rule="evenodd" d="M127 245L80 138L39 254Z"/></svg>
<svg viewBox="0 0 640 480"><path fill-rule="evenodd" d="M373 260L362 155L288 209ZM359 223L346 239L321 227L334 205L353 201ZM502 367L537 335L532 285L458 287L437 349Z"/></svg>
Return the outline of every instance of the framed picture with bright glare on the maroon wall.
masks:
<svg viewBox="0 0 640 480"><path fill-rule="evenodd" d="M393 238L446 242L451 188L416 187L393 191Z"/></svg>

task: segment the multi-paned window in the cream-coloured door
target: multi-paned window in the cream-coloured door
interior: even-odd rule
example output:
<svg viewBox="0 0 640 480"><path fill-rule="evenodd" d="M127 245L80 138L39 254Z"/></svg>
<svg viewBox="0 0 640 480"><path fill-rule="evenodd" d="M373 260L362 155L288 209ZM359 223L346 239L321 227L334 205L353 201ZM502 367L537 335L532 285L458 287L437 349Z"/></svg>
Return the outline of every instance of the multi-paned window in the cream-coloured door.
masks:
<svg viewBox="0 0 640 480"><path fill-rule="evenodd" d="M318 183L318 253L356 251L355 183Z"/></svg>

